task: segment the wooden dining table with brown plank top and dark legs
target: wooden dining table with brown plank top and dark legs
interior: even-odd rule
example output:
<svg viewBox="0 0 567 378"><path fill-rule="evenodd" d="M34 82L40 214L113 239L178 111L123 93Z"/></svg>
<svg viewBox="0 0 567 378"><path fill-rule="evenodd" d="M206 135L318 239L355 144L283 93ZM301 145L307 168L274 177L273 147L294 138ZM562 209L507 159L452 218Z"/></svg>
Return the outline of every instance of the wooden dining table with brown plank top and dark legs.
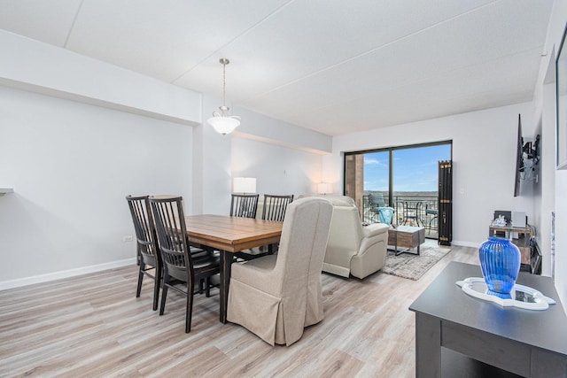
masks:
<svg viewBox="0 0 567 378"><path fill-rule="evenodd" d="M234 253L278 243L283 222L205 214L187 216L185 224L190 243L221 252L220 319L221 323L226 323Z"/></svg>

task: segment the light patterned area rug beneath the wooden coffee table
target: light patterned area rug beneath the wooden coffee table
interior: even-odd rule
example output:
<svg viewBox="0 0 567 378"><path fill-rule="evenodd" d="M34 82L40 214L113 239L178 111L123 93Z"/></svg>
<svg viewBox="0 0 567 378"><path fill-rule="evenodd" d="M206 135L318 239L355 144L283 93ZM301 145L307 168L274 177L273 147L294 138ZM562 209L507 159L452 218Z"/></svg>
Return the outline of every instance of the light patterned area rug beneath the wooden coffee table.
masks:
<svg viewBox="0 0 567 378"><path fill-rule="evenodd" d="M396 256L393 251L388 251L386 265L382 268L382 272L409 280L419 280L431 266L437 264L449 251L451 251L450 248L421 247L419 256L411 253L401 253Z"/></svg>

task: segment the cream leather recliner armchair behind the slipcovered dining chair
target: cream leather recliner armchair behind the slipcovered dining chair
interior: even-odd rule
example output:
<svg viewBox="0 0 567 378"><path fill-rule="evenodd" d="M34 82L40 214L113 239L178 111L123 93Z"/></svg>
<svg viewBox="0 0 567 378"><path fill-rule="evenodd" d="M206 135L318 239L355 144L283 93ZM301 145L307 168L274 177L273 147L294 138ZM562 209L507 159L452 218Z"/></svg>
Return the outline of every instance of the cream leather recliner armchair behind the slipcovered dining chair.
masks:
<svg viewBox="0 0 567 378"><path fill-rule="evenodd" d="M301 196L302 197L302 196ZM322 271L364 278L384 267L388 248L388 225L362 226L354 200L347 196L322 196L333 204L329 243Z"/></svg>

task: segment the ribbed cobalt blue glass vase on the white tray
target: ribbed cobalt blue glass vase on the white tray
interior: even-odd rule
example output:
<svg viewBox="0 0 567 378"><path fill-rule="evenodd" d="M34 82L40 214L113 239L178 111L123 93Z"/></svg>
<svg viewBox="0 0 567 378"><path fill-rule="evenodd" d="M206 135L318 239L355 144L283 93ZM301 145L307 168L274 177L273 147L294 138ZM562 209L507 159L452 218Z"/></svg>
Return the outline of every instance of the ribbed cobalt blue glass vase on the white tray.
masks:
<svg viewBox="0 0 567 378"><path fill-rule="evenodd" d="M520 272L520 250L503 237L491 236L478 248L480 267L485 276L486 294L510 298Z"/></svg>

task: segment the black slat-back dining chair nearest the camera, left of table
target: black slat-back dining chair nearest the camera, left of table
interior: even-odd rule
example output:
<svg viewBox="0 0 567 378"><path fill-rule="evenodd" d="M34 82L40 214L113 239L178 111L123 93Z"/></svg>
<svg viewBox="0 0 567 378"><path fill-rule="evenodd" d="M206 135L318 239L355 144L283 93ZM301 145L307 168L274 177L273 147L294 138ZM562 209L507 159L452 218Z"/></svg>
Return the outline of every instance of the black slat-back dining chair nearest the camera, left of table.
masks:
<svg viewBox="0 0 567 378"><path fill-rule="evenodd" d="M159 315L163 315L165 311L168 289L185 295L185 332L189 333L193 297L196 292L202 291L200 287L196 287L196 283L206 282L205 292L206 297L209 297L211 277L220 273L219 257L214 251L191 253L182 197L150 197L149 200L163 261Z"/></svg>

